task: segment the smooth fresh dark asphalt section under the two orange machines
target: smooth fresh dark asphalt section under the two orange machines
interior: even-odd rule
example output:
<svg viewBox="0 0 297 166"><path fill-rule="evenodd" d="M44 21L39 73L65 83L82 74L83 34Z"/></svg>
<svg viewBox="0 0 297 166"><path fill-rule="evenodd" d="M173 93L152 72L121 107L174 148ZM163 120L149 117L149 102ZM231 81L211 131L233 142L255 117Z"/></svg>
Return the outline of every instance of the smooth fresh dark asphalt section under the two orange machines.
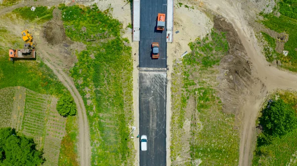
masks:
<svg viewBox="0 0 297 166"><path fill-rule="evenodd" d="M167 12L167 0L141 0L139 67L166 68L166 22L164 31L156 31L158 13ZM167 17L165 17L167 18ZM151 43L159 43L159 59L151 59Z"/></svg>

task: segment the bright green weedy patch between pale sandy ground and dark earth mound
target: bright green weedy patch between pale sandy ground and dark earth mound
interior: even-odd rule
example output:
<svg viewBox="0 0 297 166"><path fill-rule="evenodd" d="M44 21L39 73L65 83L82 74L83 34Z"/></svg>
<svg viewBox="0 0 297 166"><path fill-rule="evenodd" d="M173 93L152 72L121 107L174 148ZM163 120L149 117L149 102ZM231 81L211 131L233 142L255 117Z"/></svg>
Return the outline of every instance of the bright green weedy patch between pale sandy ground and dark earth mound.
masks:
<svg viewBox="0 0 297 166"><path fill-rule="evenodd" d="M185 63L187 65L202 64L205 69L217 65L229 49L226 33L215 31L211 31L211 34L208 34L202 41L198 38L195 42L190 42L189 46L192 53L184 57Z"/></svg>

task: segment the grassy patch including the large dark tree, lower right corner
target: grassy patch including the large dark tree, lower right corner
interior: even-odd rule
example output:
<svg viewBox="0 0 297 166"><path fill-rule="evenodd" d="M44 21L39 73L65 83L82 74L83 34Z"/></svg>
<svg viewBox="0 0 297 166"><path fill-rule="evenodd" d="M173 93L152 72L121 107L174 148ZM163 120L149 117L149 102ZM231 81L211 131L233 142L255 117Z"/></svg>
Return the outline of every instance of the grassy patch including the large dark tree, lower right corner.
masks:
<svg viewBox="0 0 297 166"><path fill-rule="evenodd" d="M259 134L253 165L293 164L291 158L296 158L297 151L296 105L296 92L278 91L269 97L257 122Z"/></svg>

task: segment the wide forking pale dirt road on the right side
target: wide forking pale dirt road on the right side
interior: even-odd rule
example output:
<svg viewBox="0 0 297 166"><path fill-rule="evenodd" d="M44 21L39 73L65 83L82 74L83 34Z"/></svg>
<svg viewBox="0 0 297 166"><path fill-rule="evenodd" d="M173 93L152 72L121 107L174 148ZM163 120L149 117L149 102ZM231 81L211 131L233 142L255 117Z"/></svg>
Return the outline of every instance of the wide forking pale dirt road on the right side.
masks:
<svg viewBox="0 0 297 166"><path fill-rule="evenodd" d="M259 78L264 83L268 92L277 88L297 90L297 75L269 66L269 63L261 54L261 48L257 44L254 32L248 26L241 3L235 1L228 2L227 0L202 1L205 8L217 12L233 24L247 50L247 56L252 62L254 77ZM251 141L255 137L253 132L255 120L266 95L266 93L260 91L260 86L258 85L251 89L253 94L247 97L247 101L242 108L244 125L240 141L240 166L251 165Z"/></svg>

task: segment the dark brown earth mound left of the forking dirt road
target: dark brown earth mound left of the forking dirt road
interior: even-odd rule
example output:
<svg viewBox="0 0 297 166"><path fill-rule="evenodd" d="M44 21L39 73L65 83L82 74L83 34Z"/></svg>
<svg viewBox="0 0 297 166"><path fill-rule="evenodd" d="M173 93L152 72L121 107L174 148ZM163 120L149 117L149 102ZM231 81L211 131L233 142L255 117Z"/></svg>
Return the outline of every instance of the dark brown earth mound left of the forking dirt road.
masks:
<svg viewBox="0 0 297 166"><path fill-rule="evenodd" d="M260 91L265 86L258 78L253 77L252 63L248 60L247 51L243 46L236 30L231 23L225 21L221 16L214 18L214 28L226 32L226 39L229 43L228 55L220 62L219 96L223 103L223 111L233 113L237 117L246 101L246 97L253 94L253 87L261 84Z"/></svg>

